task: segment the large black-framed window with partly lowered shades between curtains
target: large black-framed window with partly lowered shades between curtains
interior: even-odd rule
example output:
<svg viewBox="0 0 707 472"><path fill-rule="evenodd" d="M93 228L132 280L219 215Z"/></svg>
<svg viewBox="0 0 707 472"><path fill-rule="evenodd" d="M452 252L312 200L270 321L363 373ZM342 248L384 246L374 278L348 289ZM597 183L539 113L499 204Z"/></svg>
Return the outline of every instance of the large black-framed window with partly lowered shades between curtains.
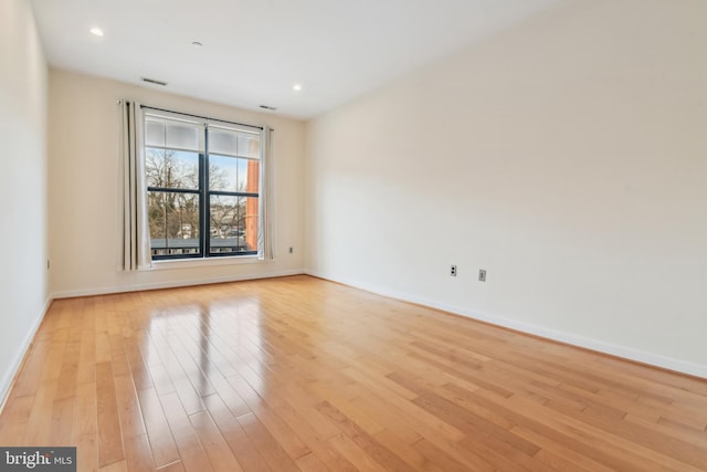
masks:
<svg viewBox="0 0 707 472"><path fill-rule="evenodd" d="M152 260L257 254L261 129L145 113Z"/></svg>

